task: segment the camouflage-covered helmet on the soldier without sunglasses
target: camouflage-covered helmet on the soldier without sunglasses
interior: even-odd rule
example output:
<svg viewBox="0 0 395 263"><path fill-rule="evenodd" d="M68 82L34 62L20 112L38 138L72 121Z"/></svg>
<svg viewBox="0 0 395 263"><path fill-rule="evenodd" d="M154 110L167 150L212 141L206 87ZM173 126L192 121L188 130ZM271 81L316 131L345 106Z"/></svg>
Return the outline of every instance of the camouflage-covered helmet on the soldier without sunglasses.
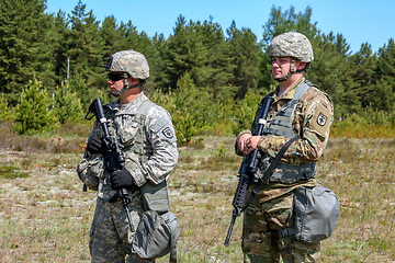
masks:
<svg viewBox="0 0 395 263"><path fill-rule="evenodd" d="M270 44L269 57L294 57L302 62L314 59L313 47L308 38L297 32L287 32L274 37Z"/></svg>

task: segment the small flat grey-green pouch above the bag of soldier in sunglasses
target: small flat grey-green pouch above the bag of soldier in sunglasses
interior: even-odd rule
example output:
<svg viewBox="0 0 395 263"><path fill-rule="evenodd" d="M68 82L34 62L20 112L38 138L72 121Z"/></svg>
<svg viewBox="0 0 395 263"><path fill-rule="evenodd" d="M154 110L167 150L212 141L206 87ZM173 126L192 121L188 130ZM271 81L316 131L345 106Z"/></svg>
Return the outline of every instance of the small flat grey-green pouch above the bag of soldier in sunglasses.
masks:
<svg viewBox="0 0 395 263"><path fill-rule="evenodd" d="M140 190L144 205L147 210L156 210L160 214L170 209L169 192L166 180L159 184L147 182Z"/></svg>

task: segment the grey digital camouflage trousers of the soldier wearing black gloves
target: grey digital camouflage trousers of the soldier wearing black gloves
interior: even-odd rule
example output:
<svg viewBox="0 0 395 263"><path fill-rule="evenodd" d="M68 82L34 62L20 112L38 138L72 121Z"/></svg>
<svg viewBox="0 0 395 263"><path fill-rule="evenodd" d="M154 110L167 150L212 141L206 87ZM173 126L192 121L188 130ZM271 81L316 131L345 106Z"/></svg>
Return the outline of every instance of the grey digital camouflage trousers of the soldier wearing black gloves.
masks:
<svg viewBox="0 0 395 263"><path fill-rule="evenodd" d="M136 229L142 213L145 210L140 195L133 195L128 204L133 226ZM92 263L139 263L155 262L140 259L131 253L134 232L131 231L126 210L119 199L109 203L98 198L90 230L89 250Z"/></svg>

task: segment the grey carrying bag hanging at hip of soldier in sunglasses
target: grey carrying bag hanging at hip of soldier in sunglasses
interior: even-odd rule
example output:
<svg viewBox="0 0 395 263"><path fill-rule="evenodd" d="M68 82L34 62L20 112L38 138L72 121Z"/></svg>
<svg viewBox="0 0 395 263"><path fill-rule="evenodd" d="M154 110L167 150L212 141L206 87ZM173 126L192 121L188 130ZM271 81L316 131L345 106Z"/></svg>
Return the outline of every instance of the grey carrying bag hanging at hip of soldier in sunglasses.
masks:
<svg viewBox="0 0 395 263"><path fill-rule="evenodd" d="M132 241L132 251L146 260L155 260L170 253L170 262L177 262L177 240L180 230L174 214L159 215L155 210L143 213Z"/></svg>

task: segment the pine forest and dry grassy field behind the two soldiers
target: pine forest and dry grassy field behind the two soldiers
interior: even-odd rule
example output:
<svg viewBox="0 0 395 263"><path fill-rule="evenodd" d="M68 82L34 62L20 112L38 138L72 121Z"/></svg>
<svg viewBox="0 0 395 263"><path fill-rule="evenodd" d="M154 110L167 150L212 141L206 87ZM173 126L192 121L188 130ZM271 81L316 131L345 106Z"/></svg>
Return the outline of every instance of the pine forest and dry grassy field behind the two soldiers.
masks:
<svg viewBox="0 0 395 263"><path fill-rule="evenodd" d="M335 105L317 180L337 194L341 215L323 262L395 261L393 38L351 54L342 34L317 28L309 7L273 7L261 42L235 22L223 30L182 15L168 38L148 37L131 21L98 21L82 1L68 14L45 13L45 2L0 0L1 262L90 262L95 193L83 193L76 174L92 128L84 115L93 99L114 100L105 61L132 48L147 57L144 92L170 112L180 146L169 180L179 262L241 262L241 218L223 245L241 162L235 135L274 90L267 52L287 31L311 39L306 77Z"/></svg>

